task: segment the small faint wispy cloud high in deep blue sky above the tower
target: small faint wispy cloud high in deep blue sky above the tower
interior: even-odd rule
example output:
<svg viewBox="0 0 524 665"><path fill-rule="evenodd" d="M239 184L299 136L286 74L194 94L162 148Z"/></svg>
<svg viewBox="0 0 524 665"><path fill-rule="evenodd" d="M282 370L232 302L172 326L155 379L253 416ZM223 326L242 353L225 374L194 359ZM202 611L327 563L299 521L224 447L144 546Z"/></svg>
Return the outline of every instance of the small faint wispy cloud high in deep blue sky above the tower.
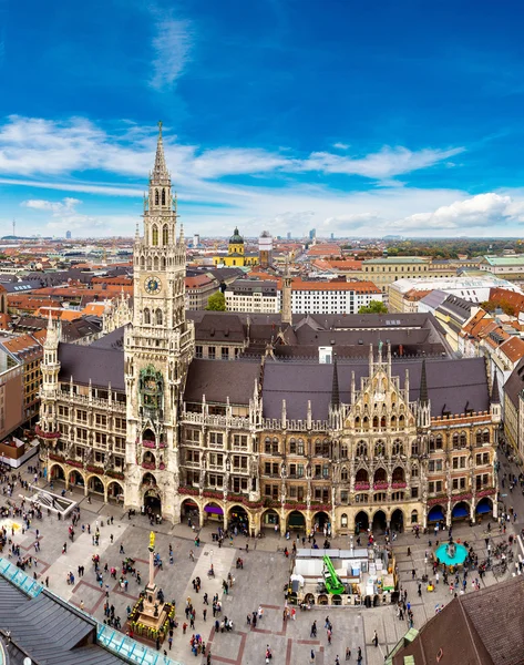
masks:
<svg viewBox="0 0 524 665"><path fill-rule="evenodd" d="M153 39L153 78L156 90L169 89L189 60L192 30L189 21L158 18Z"/></svg>

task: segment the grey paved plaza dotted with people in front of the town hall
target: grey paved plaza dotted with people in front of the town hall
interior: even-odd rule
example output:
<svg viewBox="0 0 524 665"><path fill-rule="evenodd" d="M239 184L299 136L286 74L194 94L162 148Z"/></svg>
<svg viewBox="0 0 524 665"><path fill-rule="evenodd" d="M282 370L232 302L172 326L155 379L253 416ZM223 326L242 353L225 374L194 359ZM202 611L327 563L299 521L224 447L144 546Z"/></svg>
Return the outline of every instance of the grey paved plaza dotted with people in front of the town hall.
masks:
<svg viewBox="0 0 524 665"><path fill-rule="evenodd" d="M508 469L507 463L503 464L503 470ZM24 475L29 480L29 475ZM56 491L56 487L55 487ZM16 494L20 493L17 488ZM45 515L42 521L34 520L29 532L22 532L21 520L14 519L20 525L16 529L14 542L20 544L27 553L34 554L35 530L40 531L41 550L37 554L39 563L37 573L41 581L49 577L49 586L63 598L80 606L83 604L85 611L93 614L97 620L103 621L105 593L109 591L109 602L115 607L115 615L121 617L122 625L125 623L126 608L136 601L140 591L147 581L147 545L151 526L147 520L142 515L133 516L131 520L123 513L122 508L116 505L104 505L94 497L89 503L83 497L83 492L73 491L68 497L79 502L81 508L81 519L75 529L74 542L68 538L69 521L59 521L55 515ZM0 494L0 502L6 503L6 497ZM518 501L518 498L515 495ZM524 500L523 504L524 504ZM524 511L524 508L523 508ZM45 511L44 511L45 512ZM524 513L523 513L524 514ZM107 524L109 518L113 516L113 524ZM82 524L85 531L82 532ZM91 526L91 534L88 533L86 525ZM101 539L99 545L93 544L92 535L99 526ZM485 526L475 525L473 529L466 524L459 524L454 528L453 534L462 542L469 541L475 548L479 560L486 556L485 551ZM507 533L516 530L520 532L521 525L511 524ZM156 551L163 561L163 569L156 570L156 584L164 591L167 601L175 600L177 605L178 627L175 630L173 648L168 655L181 663L201 662L202 656L195 658L191 652L189 638L192 633L199 633L203 640L209 645L213 663L227 663L230 665L240 665L249 663L264 663L266 645L269 645L274 658L274 665L289 665L290 663L309 663L311 649L315 652L315 662L319 665L335 663L336 656L345 661L346 648L351 649L351 661L356 662L357 651L360 646L363 654L364 665L379 665L383 663L384 655L388 653L408 630L405 621L397 617L394 606L388 605L376 608L364 607L316 607L309 612L297 611L296 621L285 622L284 613L284 587L288 581L290 572L290 559L286 559L282 549L289 542L268 531L263 539L245 539L237 536L233 545L225 542L218 548L213 542L213 525L205 525L201 532L201 546L196 548L194 543L194 532L187 524L178 524L174 528L168 523L163 523L154 529L156 533ZM440 533L443 536L442 532ZM113 536L113 542L111 542ZM499 529L492 530L493 541L496 542L503 536L499 535ZM507 539L507 534L506 534ZM380 539L379 539L380 540ZM431 545L430 545L431 541ZM246 554L246 543L249 543L249 552ZM62 553L62 548L66 543L66 552ZM174 563L169 564L168 549L169 544L174 552ZM120 553L121 545L124 548L124 554ZM332 539L333 548L348 548L348 538ZM408 556L408 548L411 555ZM521 544L515 545L515 554L522 554ZM425 563L425 554L434 549L434 538L422 535L414 538L412 533L405 533L399 536L394 543L394 552L401 581L401 586L408 592L408 602L414 613L414 627L420 627L431 618L435 613L435 607L446 604L451 600L449 587L442 584L436 585L435 592L428 593L425 584L422 585L422 597L418 596L418 584L421 576L427 573L432 579L431 565ZM195 560L192 561L189 552L193 550ZM136 569L142 576L142 584L129 575L130 583L127 590L120 587L117 580L103 575L102 587L97 584L92 564L93 554L97 553L101 560L101 570L107 563L109 569L116 567L121 572L122 560L131 556L135 560ZM6 552L4 552L6 554ZM235 562L237 556L244 559L244 570L237 570ZM208 579L207 571L210 562L215 569L215 579ZM79 577L79 566L85 566L84 576ZM412 579L412 570L415 571L415 577ZM513 569L512 569L513 570ZM507 579L512 574L510 570L502 579ZM34 569L27 571L30 574ZM68 573L74 574L74 584L68 584ZM227 595L222 592L222 581L227 579L228 573L235 579L235 583ZM202 580L202 590L195 594L192 580L199 576ZM471 587L471 580L476 576L470 574L466 593L474 593ZM494 584L497 579L493 573L487 573L481 582L481 586ZM207 607L207 620L203 618L204 593L209 596L209 606ZM234 631L230 633L215 633L214 620L210 607L213 595L218 593L223 601L223 615L234 622ZM184 606L186 598L191 597L193 605L197 610L195 631L189 631L184 635L182 624L185 621ZM253 613L258 606L264 608L264 620L257 624L256 628L247 625L246 616ZM332 644L328 644L327 632L325 630L326 615L333 626ZM310 626L312 621L317 622L318 634L316 638L310 637ZM377 631L379 644L372 645L372 637ZM168 648L167 642L162 648Z"/></svg>

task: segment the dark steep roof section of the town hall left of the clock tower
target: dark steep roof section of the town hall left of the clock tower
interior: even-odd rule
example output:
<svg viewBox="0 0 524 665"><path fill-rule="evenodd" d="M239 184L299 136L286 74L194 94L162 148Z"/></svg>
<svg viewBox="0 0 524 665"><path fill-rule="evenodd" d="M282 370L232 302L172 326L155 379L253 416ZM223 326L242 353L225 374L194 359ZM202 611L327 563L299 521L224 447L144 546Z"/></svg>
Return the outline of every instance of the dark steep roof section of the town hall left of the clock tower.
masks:
<svg viewBox="0 0 524 665"><path fill-rule="evenodd" d="M105 388L111 382L115 390L125 390L122 349L60 344L59 361L60 381L73 377L75 383L89 386L91 379L93 388Z"/></svg>

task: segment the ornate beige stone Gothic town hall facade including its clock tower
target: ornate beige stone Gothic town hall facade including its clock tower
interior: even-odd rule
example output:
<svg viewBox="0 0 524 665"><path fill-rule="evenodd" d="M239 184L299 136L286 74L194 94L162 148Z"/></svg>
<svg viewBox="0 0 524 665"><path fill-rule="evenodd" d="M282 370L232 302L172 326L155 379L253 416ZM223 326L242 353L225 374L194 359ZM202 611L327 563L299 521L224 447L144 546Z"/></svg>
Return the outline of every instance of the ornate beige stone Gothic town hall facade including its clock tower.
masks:
<svg viewBox="0 0 524 665"><path fill-rule="evenodd" d="M440 412L439 402L435 413L425 361L412 366L420 385L410 391L411 370L401 376L401 359L392 359L389 345L383 355L380 342L378 350L369 347L358 380L356 365L349 366L343 390L337 360L323 368L329 382L332 371L325 411L318 408L318 367L310 385L297 379L294 388L280 388L280 412L279 402L268 409L263 392L275 364L270 355L250 362L229 352L227 361L194 359L202 348L195 349L194 324L186 319L185 243L176 223L161 132L143 235L135 237L134 307L123 349L114 334L105 346L102 339L62 348L60 323L49 323L38 432L50 479L126 508L151 507L172 522L194 512L201 523L217 519L227 526L244 519L251 533L265 526L305 533L329 525L341 534L405 529L474 520L479 507L492 509L496 385L490 400L485 381L482 395L479 380L471 382L471 400L484 410L469 408L466 393L463 412ZM290 324L290 303L284 305L281 321ZM122 304L124 318L125 309ZM201 324L209 342L217 339L219 316ZM233 344L235 331L229 323L223 327L224 344ZM248 345L242 330L238 336L235 344ZM479 369L476 359L471 362ZM292 374L292 362L285 370ZM462 399L459 379L454 389ZM308 393L307 409L292 405L292 390Z"/></svg>

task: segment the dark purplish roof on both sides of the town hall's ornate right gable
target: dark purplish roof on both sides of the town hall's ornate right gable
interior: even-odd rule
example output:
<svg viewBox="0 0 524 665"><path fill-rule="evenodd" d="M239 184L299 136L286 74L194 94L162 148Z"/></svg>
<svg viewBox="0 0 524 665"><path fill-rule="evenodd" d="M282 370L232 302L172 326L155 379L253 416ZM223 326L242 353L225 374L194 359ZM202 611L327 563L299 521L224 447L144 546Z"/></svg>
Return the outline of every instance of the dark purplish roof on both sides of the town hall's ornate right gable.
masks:
<svg viewBox="0 0 524 665"><path fill-rule="evenodd" d="M403 387L405 369L410 372L410 400L420 397L422 360L395 360L392 375L400 377ZM367 377L369 368L362 361L338 362L340 401L350 399L351 371L355 371L357 388L360 378ZM483 358L425 360L428 392L431 415L443 412L462 413L465 409L486 411L490 409L490 392ZM326 420L332 392L332 366L314 362L268 361L264 369L264 417L279 418L282 399L286 400L289 419L305 419L308 400L311 401L312 418Z"/></svg>

